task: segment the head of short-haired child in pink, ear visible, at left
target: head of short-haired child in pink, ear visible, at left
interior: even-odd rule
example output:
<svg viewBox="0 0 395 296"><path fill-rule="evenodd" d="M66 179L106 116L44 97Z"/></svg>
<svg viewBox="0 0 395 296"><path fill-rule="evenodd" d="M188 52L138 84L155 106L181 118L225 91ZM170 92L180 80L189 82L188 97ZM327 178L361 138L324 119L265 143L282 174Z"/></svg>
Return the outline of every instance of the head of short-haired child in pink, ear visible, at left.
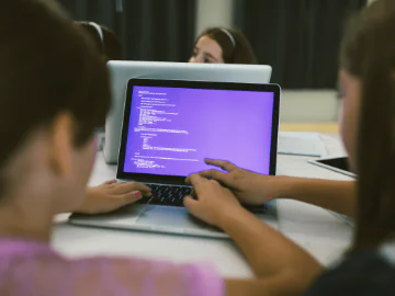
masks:
<svg viewBox="0 0 395 296"><path fill-rule="evenodd" d="M52 1L1 1L0 73L0 204L75 206L110 106L104 61Z"/></svg>

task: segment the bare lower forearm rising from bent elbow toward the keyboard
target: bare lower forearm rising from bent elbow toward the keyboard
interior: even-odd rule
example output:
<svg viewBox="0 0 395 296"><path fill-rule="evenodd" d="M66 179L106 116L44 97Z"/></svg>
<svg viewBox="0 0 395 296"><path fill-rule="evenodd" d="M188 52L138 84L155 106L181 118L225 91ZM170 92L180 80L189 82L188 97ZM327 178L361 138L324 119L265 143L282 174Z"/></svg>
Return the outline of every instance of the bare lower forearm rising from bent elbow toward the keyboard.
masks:
<svg viewBox="0 0 395 296"><path fill-rule="evenodd" d="M307 252L241 207L224 215L219 227L234 239L260 278L290 272L309 280L321 270Z"/></svg>

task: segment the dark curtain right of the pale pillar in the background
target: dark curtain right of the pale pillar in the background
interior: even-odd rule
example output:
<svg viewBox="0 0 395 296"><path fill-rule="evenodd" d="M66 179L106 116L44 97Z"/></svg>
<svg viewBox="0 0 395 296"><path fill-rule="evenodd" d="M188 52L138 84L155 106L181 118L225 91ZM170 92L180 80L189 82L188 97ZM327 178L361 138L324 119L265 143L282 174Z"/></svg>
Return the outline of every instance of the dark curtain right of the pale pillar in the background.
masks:
<svg viewBox="0 0 395 296"><path fill-rule="evenodd" d="M366 0L235 0L235 22L272 82L287 89L334 89L349 16Z"/></svg>

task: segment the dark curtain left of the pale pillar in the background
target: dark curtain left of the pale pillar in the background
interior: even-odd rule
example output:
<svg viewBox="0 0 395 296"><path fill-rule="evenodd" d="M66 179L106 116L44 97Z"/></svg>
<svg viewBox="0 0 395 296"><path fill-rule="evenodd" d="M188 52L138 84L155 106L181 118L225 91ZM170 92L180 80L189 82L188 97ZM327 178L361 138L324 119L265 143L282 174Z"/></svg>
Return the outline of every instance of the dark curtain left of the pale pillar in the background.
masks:
<svg viewBox="0 0 395 296"><path fill-rule="evenodd" d="M76 20L111 29L129 60L187 61L195 0L58 0Z"/></svg>

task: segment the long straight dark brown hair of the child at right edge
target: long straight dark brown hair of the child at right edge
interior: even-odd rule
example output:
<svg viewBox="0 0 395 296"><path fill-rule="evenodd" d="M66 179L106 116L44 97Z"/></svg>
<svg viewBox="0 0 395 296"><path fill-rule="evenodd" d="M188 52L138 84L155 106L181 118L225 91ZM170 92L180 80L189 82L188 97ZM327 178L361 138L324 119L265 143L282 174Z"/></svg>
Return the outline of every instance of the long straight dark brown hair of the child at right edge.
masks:
<svg viewBox="0 0 395 296"><path fill-rule="evenodd" d="M395 1L377 0L349 24L340 66L361 81L353 250L395 234Z"/></svg>

